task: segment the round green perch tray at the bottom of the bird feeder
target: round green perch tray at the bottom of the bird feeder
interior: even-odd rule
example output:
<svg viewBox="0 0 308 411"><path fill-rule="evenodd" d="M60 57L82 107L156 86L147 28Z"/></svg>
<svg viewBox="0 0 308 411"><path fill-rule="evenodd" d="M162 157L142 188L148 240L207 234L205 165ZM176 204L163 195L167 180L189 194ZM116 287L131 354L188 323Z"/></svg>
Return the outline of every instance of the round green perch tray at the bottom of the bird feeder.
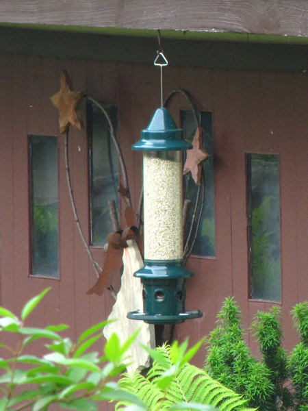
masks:
<svg viewBox="0 0 308 411"><path fill-rule="evenodd" d="M200 310L180 312L177 315L162 315L162 314L146 314L143 311L137 310L129 312L127 318L131 320L142 320L147 324L179 324L185 320L198 319L203 316Z"/></svg>

